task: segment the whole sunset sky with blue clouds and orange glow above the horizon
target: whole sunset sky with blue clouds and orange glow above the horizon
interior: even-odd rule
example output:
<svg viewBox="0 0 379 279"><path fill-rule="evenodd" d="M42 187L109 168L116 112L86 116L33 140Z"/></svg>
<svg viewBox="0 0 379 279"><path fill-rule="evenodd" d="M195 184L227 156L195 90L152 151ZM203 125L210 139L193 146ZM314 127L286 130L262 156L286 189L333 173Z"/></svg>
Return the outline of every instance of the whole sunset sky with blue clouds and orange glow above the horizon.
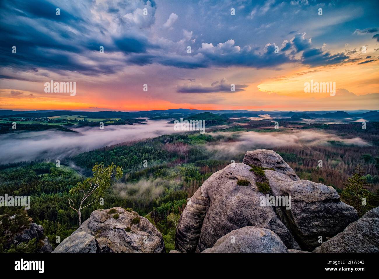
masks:
<svg viewBox="0 0 379 279"><path fill-rule="evenodd" d="M378 8L376 0L2 0L0 109L376 110ZM75 82L76 94L46 93L50 80ZM311 80L335 82L335 95L305 93Z"/></svg>

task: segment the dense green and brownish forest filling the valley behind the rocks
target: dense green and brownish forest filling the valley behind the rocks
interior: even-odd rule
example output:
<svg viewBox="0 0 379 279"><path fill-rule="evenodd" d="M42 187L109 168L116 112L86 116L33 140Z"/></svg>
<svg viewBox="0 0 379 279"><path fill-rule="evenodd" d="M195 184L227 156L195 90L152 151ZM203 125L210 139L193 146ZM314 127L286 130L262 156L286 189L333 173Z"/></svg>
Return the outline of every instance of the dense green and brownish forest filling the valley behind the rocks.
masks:
<svg viewBox="0 0 379 279"><path fill-rule="evenodd" d="M263 132L268 129L266 122L269 121L251 121L247 127L233 126L218 131ZM294 125L299 128L298 123L285 123L283 128L294 129ZM307 126L304 125L304 129ZM349 130L348 134L343 125L337 128L333 132L346 138L357 136L361 132L356 130L356 134L351 134ZM358 208L362 215L378 205L379 197L379 154L375 145L377 137L368 134L362 137L371 142L372 146L358 147L332 142L327 145L297 145L272 149L288 162L300 178L333 186L342 200L356 208L359 205L352 203L352 193L358 191L360 197L367 199L367 205ZM175 228L180 213L185 208L186 199L212 173L230 164L231 159L236 163L241 162L244 152L247 151L230 158L229 155L222 155L222 152L209 147L226 143L232 146L236 139L238 134L226 136L193 132L164 135L81 153L62 160L60 167L49 162L2 165L0 195L31 196L27 217L33 218L34 222L44 227L45 235L55 248L59 244L55 242L56 236L60 236L62 241L78 227L77 213L67 203L69 190L90 176L96 163L103 163L105 166L113 163L122 167L123 177L113 181L104 196L103 205L93 203L84 208L82 220L86 220L98 208L132 208L157 226L169 251L174 247ZM318 167L318 160L323 161L323 167ZM358 171L357 165L361 166ZM358 185L356 187L359 189L352 187L353 184ZM13 216L16 210L19 209L0 207L0 215ZM20 222L23 221L25 218L21 218ZM9 233L16 232L16 227L9 224L9 228L13 229L0 230L0 249ZM33 247L25 245L22 251L33 251ZM15 250L10 249L8 252Z"/></svg>

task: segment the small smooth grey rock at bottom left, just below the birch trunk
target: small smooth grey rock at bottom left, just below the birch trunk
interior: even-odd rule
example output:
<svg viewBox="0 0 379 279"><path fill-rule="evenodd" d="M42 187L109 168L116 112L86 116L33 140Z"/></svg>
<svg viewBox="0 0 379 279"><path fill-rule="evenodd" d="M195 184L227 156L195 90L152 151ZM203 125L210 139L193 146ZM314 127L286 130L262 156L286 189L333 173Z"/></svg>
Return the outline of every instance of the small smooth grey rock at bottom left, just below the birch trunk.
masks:
<svg viewBox="0 0 379 279"><path fill-rule="evenodd" d="M86 232L73 233L65 238L53 253L96 253L95 238Z"/></svg>

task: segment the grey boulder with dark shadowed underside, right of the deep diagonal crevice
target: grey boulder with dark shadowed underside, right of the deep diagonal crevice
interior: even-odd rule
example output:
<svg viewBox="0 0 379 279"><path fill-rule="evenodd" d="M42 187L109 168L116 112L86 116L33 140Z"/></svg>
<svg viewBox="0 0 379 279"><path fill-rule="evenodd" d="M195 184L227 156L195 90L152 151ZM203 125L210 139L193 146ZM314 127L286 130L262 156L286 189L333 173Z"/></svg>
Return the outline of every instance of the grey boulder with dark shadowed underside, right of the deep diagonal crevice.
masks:
<svg viewBox="0 0 379 279"><path fill-rule="evenodd" d="M277 213L304 250L312 251L319 245L319 236L332 237L358 219L354 207L341 202L331 186L292 181L273 170L265 170L265 174L272 195L291 197L291 208L277 207Z"/></svg>

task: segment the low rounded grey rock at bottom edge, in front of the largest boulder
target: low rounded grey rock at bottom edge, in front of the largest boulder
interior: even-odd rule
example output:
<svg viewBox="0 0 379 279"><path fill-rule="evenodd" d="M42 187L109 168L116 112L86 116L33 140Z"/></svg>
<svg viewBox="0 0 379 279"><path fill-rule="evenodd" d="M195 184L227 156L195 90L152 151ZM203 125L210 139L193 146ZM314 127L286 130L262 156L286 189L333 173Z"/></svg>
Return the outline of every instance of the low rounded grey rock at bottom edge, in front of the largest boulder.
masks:
<svg viewBox="0 0 379 279"><path fill-rule="evenodd" d="M202 253L288 253L276 233L252 226L232 230Z"/></svg>

